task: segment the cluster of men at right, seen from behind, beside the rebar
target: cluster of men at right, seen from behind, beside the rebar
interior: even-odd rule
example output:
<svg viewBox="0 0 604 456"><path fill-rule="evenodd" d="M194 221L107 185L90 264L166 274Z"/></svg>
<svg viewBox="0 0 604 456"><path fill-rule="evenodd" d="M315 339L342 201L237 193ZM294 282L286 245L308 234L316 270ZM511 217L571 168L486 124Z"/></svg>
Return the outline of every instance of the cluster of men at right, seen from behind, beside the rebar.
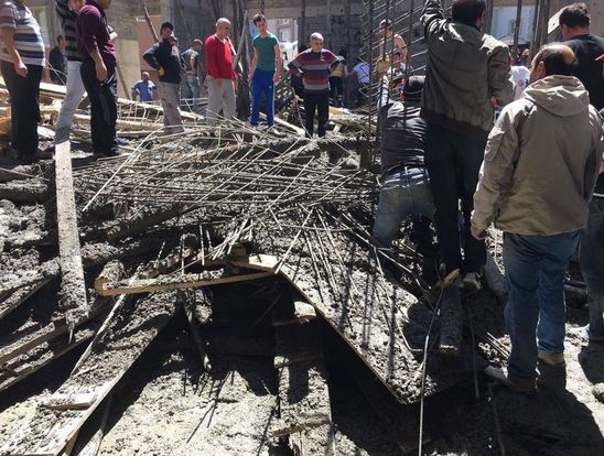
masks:
<svg viewBox="0 0 604 456"><path fill-rule="evenodd" d="M433 220L439 286L460 300L483 273L495 282L485 238L492 225L504 231L498 294L507 296L511 354L506 369L485 373L532 394L538 362L565 366L564 275L580 245L583 329L590 343L604 341L604 40L590 33L586 6L574 3L559 17L564 42L515 69L508 47L482 32L485 13L483 0L454 0L445 19L439 0L425 0L425 77L409 77L396 100L384 72L374 237L389 248L402 219L412 217L412 234ZM416 242L433 250L427 236Z"/></svg>

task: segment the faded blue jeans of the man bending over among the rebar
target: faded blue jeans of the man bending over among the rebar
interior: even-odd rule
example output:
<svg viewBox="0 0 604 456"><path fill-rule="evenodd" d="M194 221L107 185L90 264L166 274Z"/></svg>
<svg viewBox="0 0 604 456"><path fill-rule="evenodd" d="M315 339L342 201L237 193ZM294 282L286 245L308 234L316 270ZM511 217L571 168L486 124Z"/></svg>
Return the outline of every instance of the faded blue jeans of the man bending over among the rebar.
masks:
<svg viewBox="0 0 604 456"><path fill-rule="evenodd" d="M403 167L386 176L379 193L374 237L390 247L400 224L411 214L434 218L434 199L425 170Z"/></svg>

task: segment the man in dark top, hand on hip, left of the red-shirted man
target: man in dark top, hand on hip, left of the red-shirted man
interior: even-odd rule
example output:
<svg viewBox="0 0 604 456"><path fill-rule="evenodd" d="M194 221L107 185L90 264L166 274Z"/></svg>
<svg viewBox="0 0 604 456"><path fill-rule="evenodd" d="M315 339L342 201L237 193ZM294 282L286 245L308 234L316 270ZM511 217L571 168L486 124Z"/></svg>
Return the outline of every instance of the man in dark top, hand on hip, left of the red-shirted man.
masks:
<svg viewBox="0 0 604 456"><path fill-rule="evenodd" d="M175 45L174 25L164 22L160 26L159 43L153 44L142 55L144 62L155 68L160 76L158 83L158 95L162 101L163 124L170 133L183 132L183 120L181 118L181 73L184 68L179 47Z"/></svg>

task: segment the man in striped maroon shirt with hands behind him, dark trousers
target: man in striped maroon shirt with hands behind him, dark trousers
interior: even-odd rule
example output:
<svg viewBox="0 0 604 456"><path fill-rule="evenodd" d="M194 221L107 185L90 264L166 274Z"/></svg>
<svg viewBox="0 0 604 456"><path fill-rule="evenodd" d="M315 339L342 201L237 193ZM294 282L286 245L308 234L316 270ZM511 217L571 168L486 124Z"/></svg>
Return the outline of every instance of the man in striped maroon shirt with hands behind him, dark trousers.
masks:
<svg viewBox="0 0 604 456"><path fill-rule="evenodd" d="M314 131L314 112L319 111L319 137L327 131L330 120L330 74L337 66L335 54L323 48L323 35L311 35L311 48L298 54L288 65L294 75L302 75L304 84L304 128L306 137Z"/></svg>

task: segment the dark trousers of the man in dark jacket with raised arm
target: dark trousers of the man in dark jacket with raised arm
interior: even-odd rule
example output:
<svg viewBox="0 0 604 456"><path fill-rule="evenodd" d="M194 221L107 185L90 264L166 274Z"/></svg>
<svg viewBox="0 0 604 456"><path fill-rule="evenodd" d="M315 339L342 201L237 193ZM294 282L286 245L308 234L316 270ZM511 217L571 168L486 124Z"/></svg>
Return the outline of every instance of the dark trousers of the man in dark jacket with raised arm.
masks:
<svg viewBox="0 0 604 456"><path fill-rule="evenodd" d="M425 166L434 195L436 234L446 273L455 269L464 273L478 272L486 262L485 242L472 236L470 222L485 145L451 130L428 126ZM462 234L457 224L460 199L464 217ZM461 236L464 238L463 261Z"/></svg>

